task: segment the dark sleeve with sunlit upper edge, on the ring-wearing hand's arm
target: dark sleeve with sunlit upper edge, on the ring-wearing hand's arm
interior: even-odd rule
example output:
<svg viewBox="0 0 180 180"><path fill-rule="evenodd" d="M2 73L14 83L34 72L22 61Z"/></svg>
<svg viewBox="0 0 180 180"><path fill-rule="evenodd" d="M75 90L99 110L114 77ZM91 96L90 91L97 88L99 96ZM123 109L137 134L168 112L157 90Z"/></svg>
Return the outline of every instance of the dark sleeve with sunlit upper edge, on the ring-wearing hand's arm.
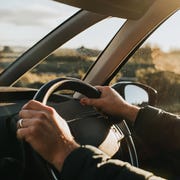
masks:
<svg viewBox="0 0 180 180"><path fill-rule="evenodd" d="M109 159L107 155L92 146L80 147L67 157L61 178L63 180L162 180L126 162Z"/></svg>

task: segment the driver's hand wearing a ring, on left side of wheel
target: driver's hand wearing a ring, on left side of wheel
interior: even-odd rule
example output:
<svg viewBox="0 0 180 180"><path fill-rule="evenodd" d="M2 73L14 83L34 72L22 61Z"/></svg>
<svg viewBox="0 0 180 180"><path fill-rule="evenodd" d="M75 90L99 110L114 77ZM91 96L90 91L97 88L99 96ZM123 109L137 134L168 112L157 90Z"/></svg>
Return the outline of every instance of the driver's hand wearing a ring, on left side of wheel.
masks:
<svg viewBox="0 0 180 180"><path fill-rule="evenodd" d="M79 147L66 121L52 107L35 100L25 104L19 116L23 121L17 137L60 171L65 158Z"/></svg>

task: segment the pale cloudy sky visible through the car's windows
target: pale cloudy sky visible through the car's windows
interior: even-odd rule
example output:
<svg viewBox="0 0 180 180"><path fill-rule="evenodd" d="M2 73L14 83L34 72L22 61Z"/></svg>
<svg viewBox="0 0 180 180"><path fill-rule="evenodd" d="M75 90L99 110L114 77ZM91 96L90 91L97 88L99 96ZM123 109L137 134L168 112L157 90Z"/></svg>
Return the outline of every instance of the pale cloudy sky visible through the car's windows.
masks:
<svg viewBox="0 0 180 180"><path fill-rule="evenodd" d="M0 46L32 46L76 11L77 8L51 0L0 0ZM171 49L180 47L180 39L177 38L180 33L180 20L177 25L175 21L177 18L180 19L179 12L168 24L159 29L159 35L152 36L149 42L160 45L164 50L169 49L166 44L169 44ZM99 29L92 28L91 31L83 33L79 39L74 39L71 45L67 43L66 46L80 47L86 44L90 48L101 49L123 22L124 20L113 19L111 22L99 23ZM172 28L168 30L168 27ZM109 29L102 31L102 28ZM96 42L101 43L97 45L92 38L87 38L92 36ZM158 44L159 42L161 43Z"/></svg>

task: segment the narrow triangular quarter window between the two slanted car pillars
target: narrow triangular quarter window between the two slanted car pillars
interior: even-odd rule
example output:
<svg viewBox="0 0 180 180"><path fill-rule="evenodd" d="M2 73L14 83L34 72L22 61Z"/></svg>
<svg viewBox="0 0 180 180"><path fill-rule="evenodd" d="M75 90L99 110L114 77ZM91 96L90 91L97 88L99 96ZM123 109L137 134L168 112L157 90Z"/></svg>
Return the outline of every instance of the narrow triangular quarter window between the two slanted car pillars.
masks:
<svg viewBox="0 0 180 180"><path fill-rule="evenodd" d="M27 72L15 86L39 88L59 77L83 79L124 21L119 18L107 18L91 26Z"/></svg>

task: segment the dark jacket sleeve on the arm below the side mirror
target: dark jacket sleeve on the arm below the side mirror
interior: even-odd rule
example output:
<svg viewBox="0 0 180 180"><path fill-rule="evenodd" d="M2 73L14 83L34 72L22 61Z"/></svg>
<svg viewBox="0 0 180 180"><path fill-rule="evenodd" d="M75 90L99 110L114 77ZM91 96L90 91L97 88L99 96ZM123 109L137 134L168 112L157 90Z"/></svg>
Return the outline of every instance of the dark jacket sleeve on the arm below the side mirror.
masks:
<svg viewBox="0 0 180 180"><path fill-rule="evenodd" d="M136 134L158 151L180 150L180 116L151 106L140 110L134 129Z"/></svg>

